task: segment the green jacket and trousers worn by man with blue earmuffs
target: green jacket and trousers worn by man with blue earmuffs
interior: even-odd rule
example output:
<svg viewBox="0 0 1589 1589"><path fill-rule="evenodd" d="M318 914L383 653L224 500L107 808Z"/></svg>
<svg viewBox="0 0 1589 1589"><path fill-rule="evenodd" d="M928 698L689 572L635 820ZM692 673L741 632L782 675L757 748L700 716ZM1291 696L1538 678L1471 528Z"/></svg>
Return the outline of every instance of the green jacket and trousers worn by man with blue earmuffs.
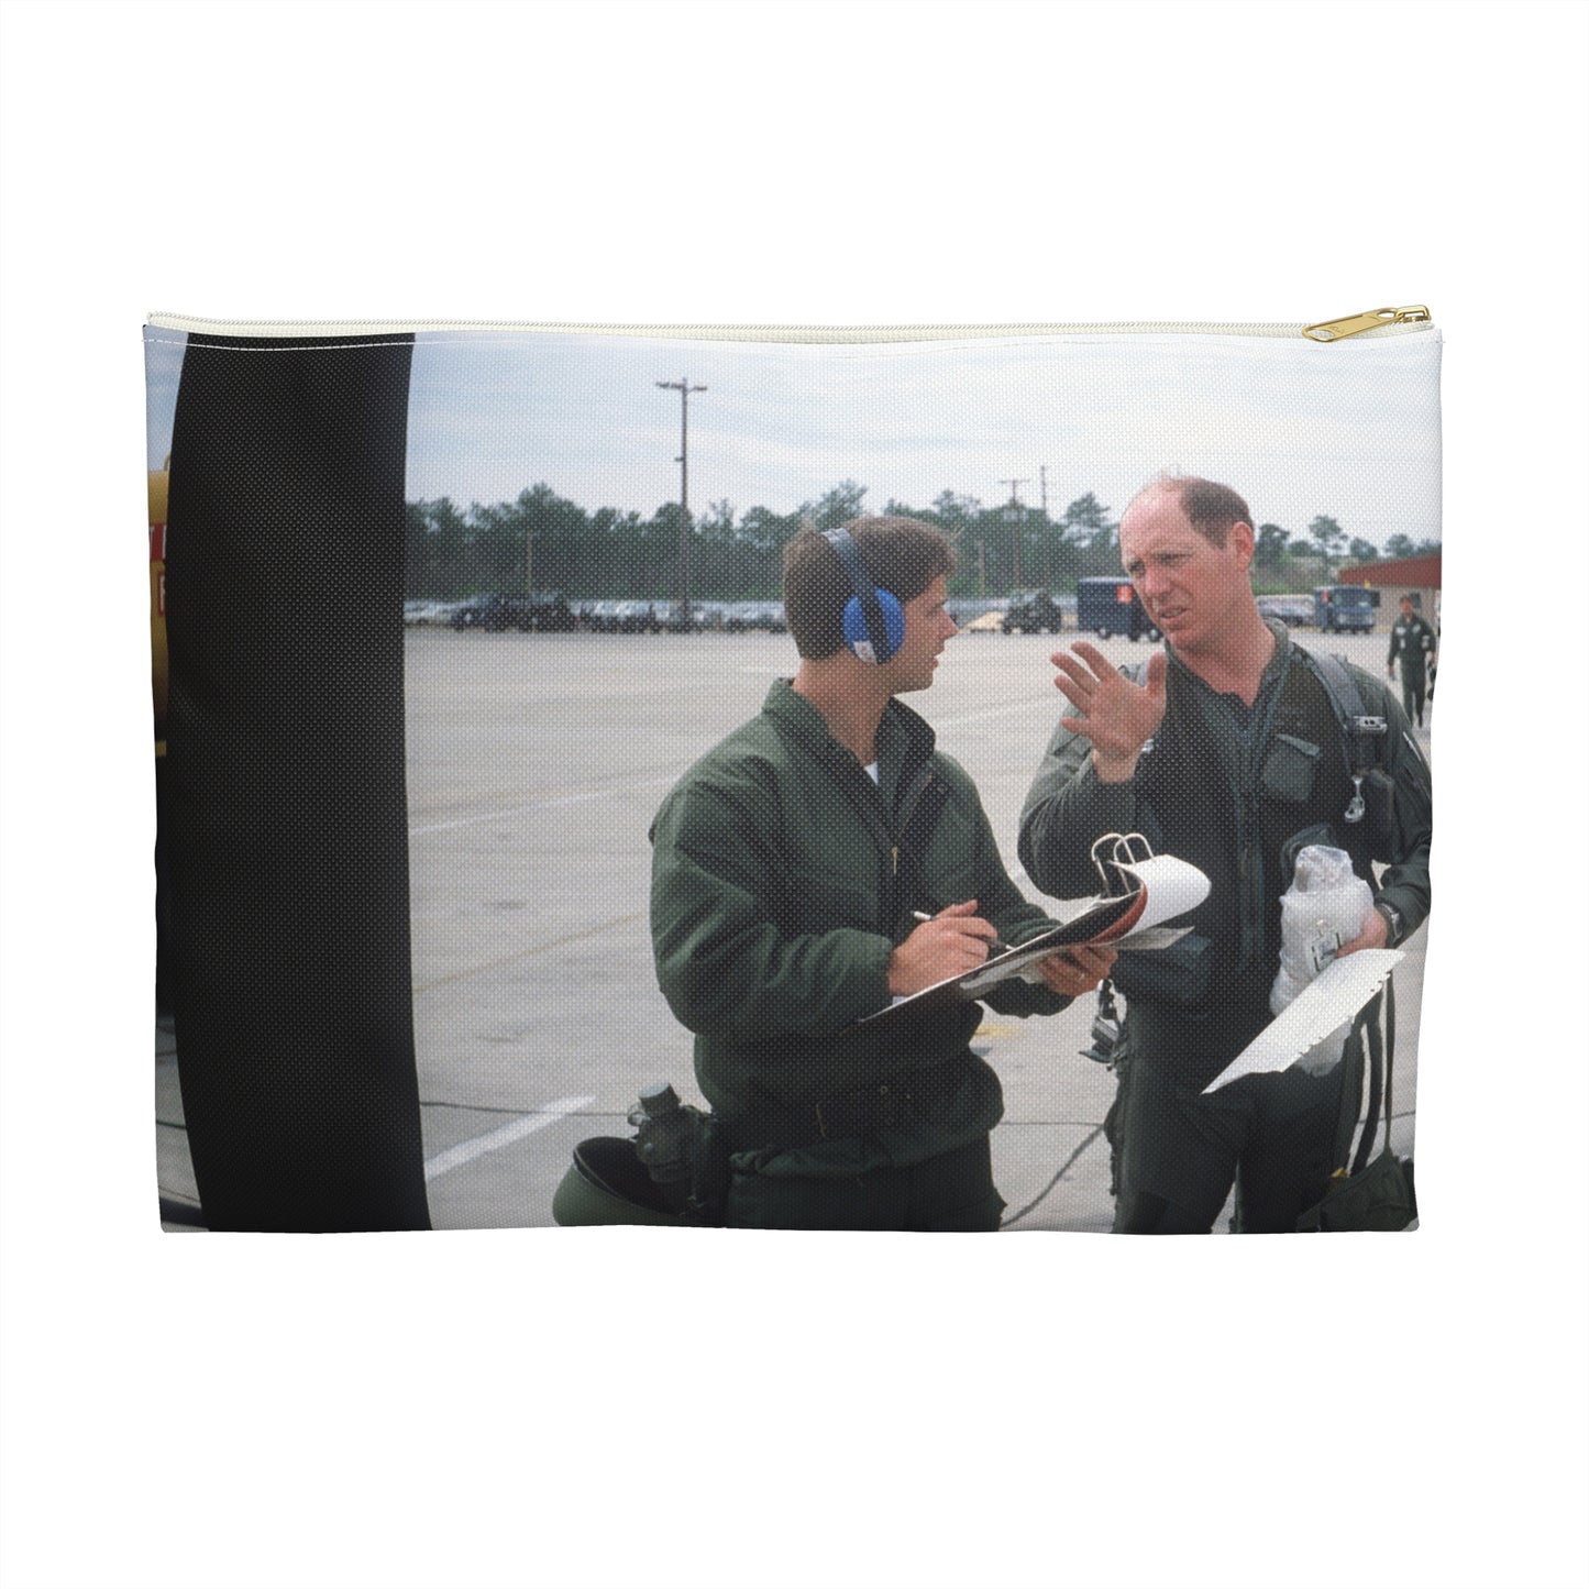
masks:
<svg viewBox="0 0 1589 1589"><path fill-rule="evenodd" d="M656 974L733 1149L729 1224L998 1227L988 1133L1004 1104L969 1047L977 1004L853 1023L890 1003L914 910L976 899L1015 944L1049 918L1004 871L971 779L899 701L877 758L874 783L779 680L651 828ZM925 841L918 801L942 802ZM1069 1003L1026 982L987 1001L1015 1015Z"/></svg>

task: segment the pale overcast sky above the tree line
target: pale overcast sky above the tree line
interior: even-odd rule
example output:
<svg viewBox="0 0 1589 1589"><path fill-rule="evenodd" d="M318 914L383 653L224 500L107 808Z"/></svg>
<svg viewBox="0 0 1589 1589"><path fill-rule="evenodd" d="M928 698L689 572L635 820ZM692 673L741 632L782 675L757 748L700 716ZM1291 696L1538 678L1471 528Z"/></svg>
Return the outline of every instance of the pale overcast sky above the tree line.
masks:
<svg viewBox="0 0 1589 1589"><path fill-rule="evenodd" d="M180 338L149 346L149 459L168 450ZM1087 335L887 345L421 332L407 494L459 507L547 481L585 508L690 502L787 513L837 485L926 507L1085 491L1115 516L1158 470L1225 480L1293 535L1328 513L1382 547L1440 535L1440 334L1320 346L1303 337Z"/></svg>

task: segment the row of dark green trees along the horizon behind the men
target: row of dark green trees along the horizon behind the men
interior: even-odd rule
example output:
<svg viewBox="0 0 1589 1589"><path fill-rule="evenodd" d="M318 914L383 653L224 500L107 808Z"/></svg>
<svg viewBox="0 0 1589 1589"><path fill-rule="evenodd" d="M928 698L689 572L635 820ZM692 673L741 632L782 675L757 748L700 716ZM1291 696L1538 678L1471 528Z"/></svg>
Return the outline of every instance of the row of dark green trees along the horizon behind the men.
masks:
<svg viewBox="0 0 1589 1589"><path fill-rule="evenodd" d="M1090 574L1119 574L1119 523L1093 493L1061 515L1041 507L985 504L942 491L926 507L890 499L863 505L866 486L844 480L791 513L712 502L694 516L688 535L690 596L694 601L772 599L779 594L783 543L801 524L831 529L863 512L903 513L938 524L955 537L955 596L1006 596L1042 586L1069 591ZM459 508L450 497L407 504L408 596L456 597L477 591L556 590L570 601L621 597L663 601L682 591L677 502L650 518L601 507L594 512L559 496L542 481L512 502ZM1416 556L1438 542L1414 543L1392 535L1386 556ZM1341 558L1378 561L1368 540L1349 537L1336 520L1319 515L1301 535L1260 524L1254 585L1260 591L1308 590L1328 578Z"/></svg>

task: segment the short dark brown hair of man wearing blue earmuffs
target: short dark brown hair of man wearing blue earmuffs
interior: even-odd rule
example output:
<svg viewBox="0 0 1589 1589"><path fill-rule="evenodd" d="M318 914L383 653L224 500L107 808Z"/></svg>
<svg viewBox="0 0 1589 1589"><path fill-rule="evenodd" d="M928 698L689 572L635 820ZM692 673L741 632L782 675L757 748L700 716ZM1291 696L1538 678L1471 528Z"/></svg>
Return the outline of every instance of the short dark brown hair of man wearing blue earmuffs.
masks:
<svg viewBox="0 0 1589 1589"><path fill-rule="evenodd" d="M955 548L934 524L874 516L844 528L872 583L901 602L955 572ZM844 650L844 609L853 594L837 548L814 524L796 531L783 548L783 612L801 656L815 661Z"/></svg>

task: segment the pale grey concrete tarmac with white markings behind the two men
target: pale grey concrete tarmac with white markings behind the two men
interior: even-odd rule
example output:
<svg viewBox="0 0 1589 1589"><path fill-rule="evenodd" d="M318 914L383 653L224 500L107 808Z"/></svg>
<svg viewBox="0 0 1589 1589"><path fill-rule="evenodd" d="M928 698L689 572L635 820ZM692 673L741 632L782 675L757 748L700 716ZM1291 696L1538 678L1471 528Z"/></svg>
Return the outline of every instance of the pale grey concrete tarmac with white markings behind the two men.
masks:
<svg viewBox="0 0 1589 1589"><path fill-rule="evenodd" d="M1006 864L1060 715L1061 636L963 634L909 698L977 780ZM1382 675L1387 639L1298 631ZM1096 642L1115 663L1149 644ZM688 764L794 669L788 636L481 634L416 628L407 651L413 1011L431 1219L439 1230L551 1224L574 1146L626 1136L642 1087L702 1103L690 1034L651 969L647 828ZM1427 731L1422 744L1427 750ZM1392 1144L1413 1152L1425 931L1395 972ZM1103 1119L1114 1077L1082 1058L1095 1001L974 1047L999 1073L993 1133L1006 1230L1106 1231ZM178 1034L156 1025L162 1225L197 1228ZM1220 1220L1216 1228L1222 1230Z"/></svg>

